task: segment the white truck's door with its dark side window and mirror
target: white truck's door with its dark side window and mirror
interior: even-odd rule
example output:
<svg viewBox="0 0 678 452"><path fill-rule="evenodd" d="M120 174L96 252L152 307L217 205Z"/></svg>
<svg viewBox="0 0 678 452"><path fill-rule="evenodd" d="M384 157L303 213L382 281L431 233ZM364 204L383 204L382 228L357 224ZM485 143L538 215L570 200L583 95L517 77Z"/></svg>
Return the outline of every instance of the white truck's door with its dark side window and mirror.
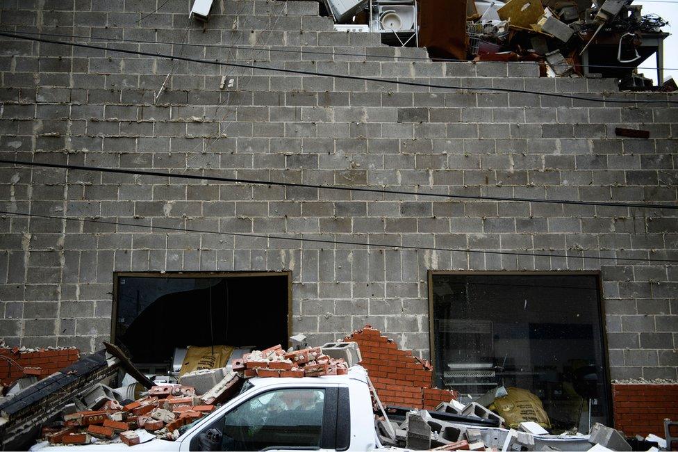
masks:
<svg viewBox="0 0 678 452"><path fill-rule="evenodd" d="M271 389L204 426L190 450L336 449L337 412L336 387Z"/></svg>

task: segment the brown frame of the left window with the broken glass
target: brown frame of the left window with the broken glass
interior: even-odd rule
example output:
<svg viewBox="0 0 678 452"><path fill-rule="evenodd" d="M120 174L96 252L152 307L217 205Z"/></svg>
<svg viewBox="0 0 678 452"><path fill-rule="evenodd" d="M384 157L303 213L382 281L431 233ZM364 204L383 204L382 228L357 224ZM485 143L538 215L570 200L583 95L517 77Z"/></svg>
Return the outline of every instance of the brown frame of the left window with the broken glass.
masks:
<svg viewBox="0 0 678 452"><path fill-rule="evenodd" d="M157 277L178 279L209 279L228 277L270 277L287 276L287 336L292 336L292 271L115 271L113 272L112 307L110 314L110 342L115 344L115 325L117 323L118 284L122 277ZM287 344L290 346L290 344Z"/></svg>

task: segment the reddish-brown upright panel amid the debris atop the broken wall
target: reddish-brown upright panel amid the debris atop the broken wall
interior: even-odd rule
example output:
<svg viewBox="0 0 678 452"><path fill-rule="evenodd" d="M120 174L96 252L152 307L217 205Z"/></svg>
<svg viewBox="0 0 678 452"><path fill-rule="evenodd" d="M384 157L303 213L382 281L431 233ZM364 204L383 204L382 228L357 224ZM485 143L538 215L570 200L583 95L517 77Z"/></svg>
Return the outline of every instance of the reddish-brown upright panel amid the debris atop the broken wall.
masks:
<svg viewBox="0 0 678 452"><path fill-rule="evenodd" d="M419 44L431 58L466 59L466 0L419 3Z"/></svg>

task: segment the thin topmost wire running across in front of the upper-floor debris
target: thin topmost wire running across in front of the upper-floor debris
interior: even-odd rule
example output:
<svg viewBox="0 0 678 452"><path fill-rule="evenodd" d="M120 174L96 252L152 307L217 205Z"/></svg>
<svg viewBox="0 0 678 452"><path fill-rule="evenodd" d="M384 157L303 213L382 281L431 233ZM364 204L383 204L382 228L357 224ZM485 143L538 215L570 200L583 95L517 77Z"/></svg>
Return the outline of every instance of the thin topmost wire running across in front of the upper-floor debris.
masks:
<svg viewBox="0 0 678 452"><path fill-rule="evenodd" d="M678 2L677 2L678 3ZM668 24L668 22L667 22ZM195 44L192 42L188 43L181 43L181 42L173 42L173 41L158 41L158 40L143 40L143 39L132 39L132 38L115 38L115 36L111 37L106 37L106 36L85 36L85 35L63 35L59 33L33 33L31 31L11 31L10 33L19 33L22 35L33 35L33 36L52 36L54 38L80 38L84 40L90 40L90 41L102 41L102 42L132 42L135 44L160 44L160 45L184 45L186 47L209 47L209 48L215 48L215 49L239 49L239 50L251 50L251 51L271 51L271 52L279 52L279 53L286 53L286 54L311 54L311 55L331 55L331 56L359 56L363 58L394 58L396 60L401 59L401 60L414 60L414 61L426 61L426 62L448 62L448 63L472 63L470 61L464 61L464 60L458 60L456 58L425 58L421 56L385 56L385 55L379 55L379 54L353 54L349 52L338 52L338 51L315 51L315 50L296 50L296 49L272 49L272 48L265 48L265 47L272 47L269 45L225 45L225 44ZM286 47L299 47L299 46L286 46ZM325 47L325 46L323 46ZM331 47L331 46L326 46L326 47ZM341 47L341 46L340 46ZM295 60L296 61L296 60ZM301 60L310 62L311 60ZM345 61L342 63L354 63L354 62L349 62ZM355 63L361 63L361 62L355 62ZM483 63L483 62L481 62ZM529 65L534 65L537 63L536 61L511 61L510 62L512 65L515 64L529 64ZM552 66L570 66L569 63L555 63L551 64ZM600 64L589 64L589 66L595 66L595 67L609 67L610 69L629 69L629 66L621 66L621 65L600 65ZM678 67L649 67L649 66L638 66L635 67L635 69L646 69L646 70L656 70L656 69L663 69L663 70L678 70Z"/></svg>

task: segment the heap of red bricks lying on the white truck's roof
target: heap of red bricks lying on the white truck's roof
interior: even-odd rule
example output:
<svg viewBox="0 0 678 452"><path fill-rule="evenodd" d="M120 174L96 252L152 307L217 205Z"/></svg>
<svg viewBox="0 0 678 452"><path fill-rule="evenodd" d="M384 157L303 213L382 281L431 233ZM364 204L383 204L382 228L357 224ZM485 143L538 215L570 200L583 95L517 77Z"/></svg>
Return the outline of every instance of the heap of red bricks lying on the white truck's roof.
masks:
<svg viewBox="0 0 678 452"><path fill-rule="evenodd" d="M231 362L233 371L243 378L281 377L301 378L325 375L346 375L345 360L324 355L320 347L308 347L286 352L277 345L266 350L254 350Z"/></svg>

